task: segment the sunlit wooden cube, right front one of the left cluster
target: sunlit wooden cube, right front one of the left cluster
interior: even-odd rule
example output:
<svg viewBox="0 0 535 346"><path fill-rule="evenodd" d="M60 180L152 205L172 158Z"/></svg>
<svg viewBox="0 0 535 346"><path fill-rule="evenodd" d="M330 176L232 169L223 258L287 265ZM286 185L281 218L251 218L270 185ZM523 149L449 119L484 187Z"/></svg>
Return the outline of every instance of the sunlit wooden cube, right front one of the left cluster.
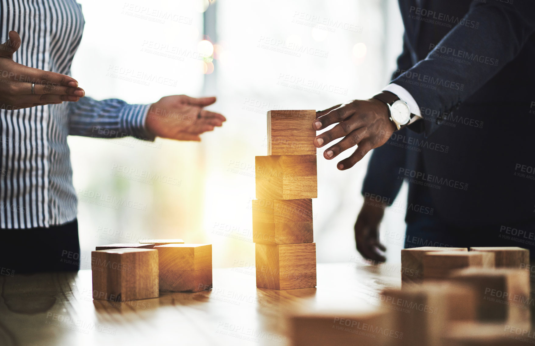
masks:
<svg viewBox="0 0 535 346"><path fill-rule="evenodd" d="M198 292L212 288L211 244L164 244L159 255L162 292Z"/></svg>

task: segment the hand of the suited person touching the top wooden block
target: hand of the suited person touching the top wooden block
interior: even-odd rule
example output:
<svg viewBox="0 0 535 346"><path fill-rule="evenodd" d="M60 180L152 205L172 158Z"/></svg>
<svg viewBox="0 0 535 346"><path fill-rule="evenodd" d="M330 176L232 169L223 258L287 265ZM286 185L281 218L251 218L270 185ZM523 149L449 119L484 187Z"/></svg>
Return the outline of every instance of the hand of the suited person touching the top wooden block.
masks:
<svg viewBox="0 0 535 346"><path fill-rule="evenodd" d="M341 160L337 167L347 170L359 162L373 148L380 147L396 130L394 122L389 119L388 107L375 98L354 100L336 105L324 111L316 112L316 120L312 124L315 130L322 130L332 124L339 123L332 129L316 136L314 145L324 147L335 139L344 137L337 144L324 151L327 159L337 157L342 151L357 145L351 156Z"/></svg>

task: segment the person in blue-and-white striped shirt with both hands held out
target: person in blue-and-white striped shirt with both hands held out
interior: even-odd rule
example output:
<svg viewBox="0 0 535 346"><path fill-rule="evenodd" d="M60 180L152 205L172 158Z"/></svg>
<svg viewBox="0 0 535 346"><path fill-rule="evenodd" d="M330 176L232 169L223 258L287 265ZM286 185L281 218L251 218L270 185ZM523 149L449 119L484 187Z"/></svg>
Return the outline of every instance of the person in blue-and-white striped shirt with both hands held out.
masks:
<svg viewBox="0 0 535 346"><path fill-rule="evenodd" d="M78 270L62 261L80 252L67 135L200 141L226 119L204 109L215 97L85 96L70 76L85 24L74 0L0 0L0 16L0 267Z"/></svg>

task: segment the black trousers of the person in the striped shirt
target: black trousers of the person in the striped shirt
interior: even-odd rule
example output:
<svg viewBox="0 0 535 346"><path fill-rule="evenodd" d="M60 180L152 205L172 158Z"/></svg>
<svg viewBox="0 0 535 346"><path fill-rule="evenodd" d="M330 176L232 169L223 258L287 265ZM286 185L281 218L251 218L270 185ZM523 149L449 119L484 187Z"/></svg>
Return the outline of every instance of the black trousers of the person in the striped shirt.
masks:
<svg viewBox="0 0 535 346"><path fill-rule="evenodd" d="M0 271L4 275L80 268L77 220L50 228L0 229L0 235Z"/></svg>

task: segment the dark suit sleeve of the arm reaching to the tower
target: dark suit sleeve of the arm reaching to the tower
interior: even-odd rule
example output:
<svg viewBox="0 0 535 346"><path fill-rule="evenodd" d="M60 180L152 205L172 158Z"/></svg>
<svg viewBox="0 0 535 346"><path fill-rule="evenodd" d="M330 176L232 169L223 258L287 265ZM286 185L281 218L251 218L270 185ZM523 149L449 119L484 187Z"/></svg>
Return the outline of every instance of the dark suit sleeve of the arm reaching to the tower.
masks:
<svg viewBox="0 0 535 346"><path fill-rule="evenodd" d="M439 114L457 109L518 55L534 31L534 0L472 3L466 16L425 59L393 81L409 91L420 109L429 110L426 114L430 115L425 116L425 121L417 122L420 128L411 129L424 131L426 136L433 133L440 126ZM477 51L480 56L498 59L500 66L463 65L433 57L440 46L458 51ZM437 55L440 55L439 52ZM436 88L422 87L422 84Z"/></svg>

